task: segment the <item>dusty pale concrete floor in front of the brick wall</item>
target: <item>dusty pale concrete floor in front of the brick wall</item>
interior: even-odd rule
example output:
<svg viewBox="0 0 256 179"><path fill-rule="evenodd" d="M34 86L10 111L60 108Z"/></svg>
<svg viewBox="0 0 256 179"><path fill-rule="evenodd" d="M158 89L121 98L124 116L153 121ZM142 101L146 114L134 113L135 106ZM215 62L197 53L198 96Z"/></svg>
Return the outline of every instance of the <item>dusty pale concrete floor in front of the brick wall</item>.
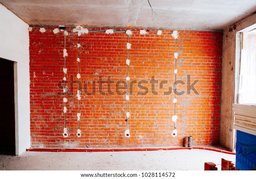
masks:
<svg viewBox="0 0 256 179"><path fill-rule="evenodd" d="M221 158L236 156L210 150L159 150L129 152L26 152L0 155L0 170L204 170L213 162L221 170Z"/></svg>

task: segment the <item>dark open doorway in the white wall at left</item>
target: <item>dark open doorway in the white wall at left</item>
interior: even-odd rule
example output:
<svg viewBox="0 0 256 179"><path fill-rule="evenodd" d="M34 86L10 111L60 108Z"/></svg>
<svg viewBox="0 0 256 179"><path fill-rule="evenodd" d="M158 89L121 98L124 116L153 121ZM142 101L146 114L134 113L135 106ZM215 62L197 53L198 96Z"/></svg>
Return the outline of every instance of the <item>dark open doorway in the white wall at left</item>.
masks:
<svg viewBox="0 0 256 179"><path fill-rule="evenodd" d="M0 58L0 154L15 155L14 62Z"/></svg>

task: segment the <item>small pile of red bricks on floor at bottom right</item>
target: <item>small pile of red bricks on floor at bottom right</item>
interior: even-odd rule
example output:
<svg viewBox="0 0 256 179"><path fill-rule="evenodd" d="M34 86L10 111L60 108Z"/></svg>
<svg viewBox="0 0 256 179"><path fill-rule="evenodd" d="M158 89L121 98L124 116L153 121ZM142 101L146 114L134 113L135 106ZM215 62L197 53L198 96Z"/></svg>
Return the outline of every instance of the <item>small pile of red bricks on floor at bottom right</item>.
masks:
<svg viewBox="0 0 256 179"><path fill-rule="evenodd" d="M205 162L204 170L218 170L215 163ZM234 164L228 160L221 159L221 170L238 170Z"/></svg>

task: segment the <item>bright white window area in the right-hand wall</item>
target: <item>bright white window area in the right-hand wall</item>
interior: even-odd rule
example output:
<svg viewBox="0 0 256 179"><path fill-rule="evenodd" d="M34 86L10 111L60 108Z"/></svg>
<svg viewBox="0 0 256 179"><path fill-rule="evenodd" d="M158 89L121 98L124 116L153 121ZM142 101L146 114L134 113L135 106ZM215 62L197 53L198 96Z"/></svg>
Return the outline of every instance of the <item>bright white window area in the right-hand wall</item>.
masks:
<svg viewBox="0 0 256 179"><path fill-rule="evenodd" d="M256 34L245 33L242 47L239 103L256 104Z"/></svg>

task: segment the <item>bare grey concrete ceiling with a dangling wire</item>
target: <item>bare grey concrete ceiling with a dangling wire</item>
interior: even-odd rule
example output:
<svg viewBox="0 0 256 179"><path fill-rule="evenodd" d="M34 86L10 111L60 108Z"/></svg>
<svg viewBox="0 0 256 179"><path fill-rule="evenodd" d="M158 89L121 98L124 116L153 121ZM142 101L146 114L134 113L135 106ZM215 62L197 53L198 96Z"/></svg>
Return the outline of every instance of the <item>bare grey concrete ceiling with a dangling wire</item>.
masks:
<svg viewBox="0 0 256 179"><path fill-rule="evenodd" d="M29 25L224 29L256 0L0 0Z"/></svg>

